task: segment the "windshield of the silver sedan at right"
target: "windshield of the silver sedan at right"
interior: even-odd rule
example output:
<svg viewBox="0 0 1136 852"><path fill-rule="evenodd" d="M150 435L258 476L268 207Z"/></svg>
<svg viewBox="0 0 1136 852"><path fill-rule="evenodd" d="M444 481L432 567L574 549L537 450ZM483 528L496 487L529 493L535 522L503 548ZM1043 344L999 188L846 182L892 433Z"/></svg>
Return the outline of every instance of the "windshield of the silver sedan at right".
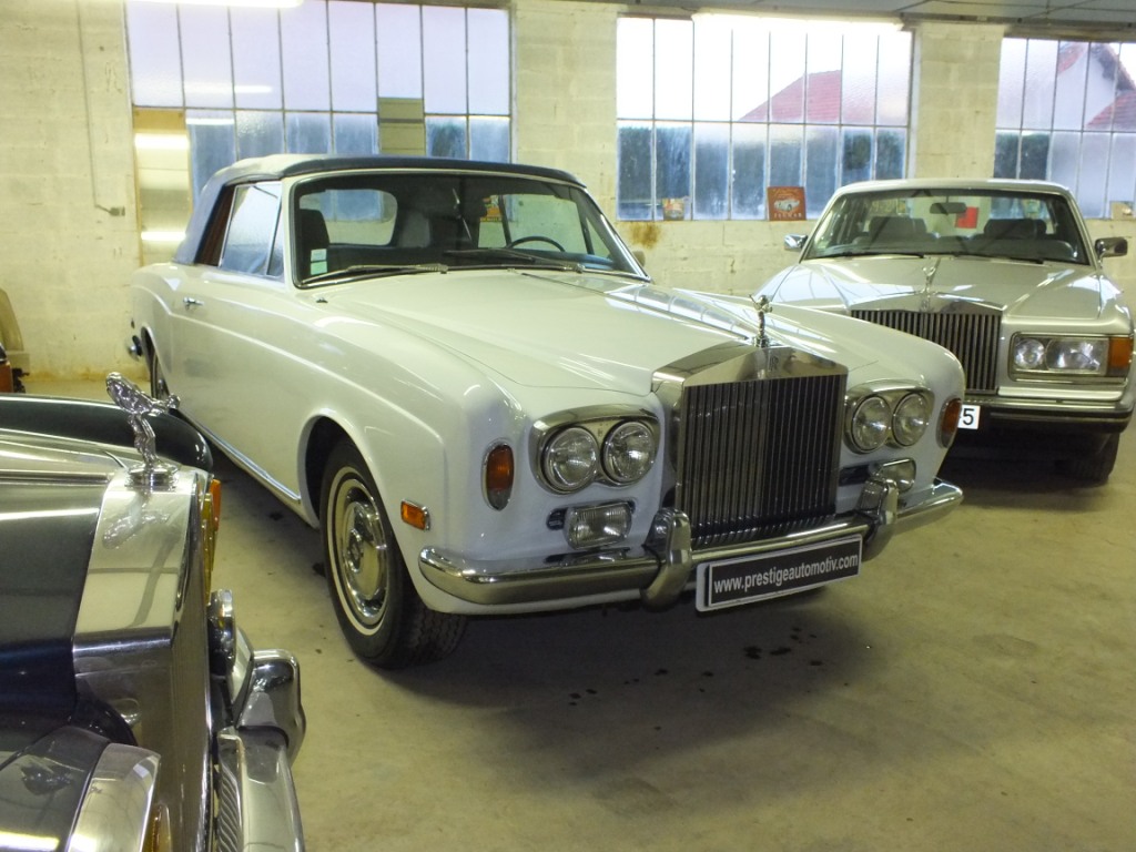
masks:
<svg viewBox="0 0 1136 852"><path fill-rule="evenodd" d="M1089 262L1076 212L1064 198L993 191L845 195L818 224L803 259L861 254Z"/></svg>

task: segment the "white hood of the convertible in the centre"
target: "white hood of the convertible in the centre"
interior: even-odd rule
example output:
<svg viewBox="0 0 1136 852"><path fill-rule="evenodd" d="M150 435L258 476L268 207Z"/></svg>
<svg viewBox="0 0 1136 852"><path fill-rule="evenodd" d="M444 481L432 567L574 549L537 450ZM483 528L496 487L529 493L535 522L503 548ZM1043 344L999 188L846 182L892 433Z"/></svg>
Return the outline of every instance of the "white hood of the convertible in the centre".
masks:
<svg viewBox="0 0 1136 852"><path fill-rule="evenodd" d="M343 334L362 341L394 326L529 386L645 393L659 367L754 334L743 315L696 295L575 273L431 273L316 296L343 319Z"/></svg>

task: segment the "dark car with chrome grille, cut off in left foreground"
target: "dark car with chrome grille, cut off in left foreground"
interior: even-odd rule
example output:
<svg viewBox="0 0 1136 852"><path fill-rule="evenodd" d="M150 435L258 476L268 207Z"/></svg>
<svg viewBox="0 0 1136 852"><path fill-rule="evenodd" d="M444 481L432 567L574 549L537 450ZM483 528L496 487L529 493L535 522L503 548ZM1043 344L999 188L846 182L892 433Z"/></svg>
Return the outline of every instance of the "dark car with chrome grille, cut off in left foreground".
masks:
<svg viewBox="0 0 1136 852"><path fill-rule="evenodd" d="M300 673L209 591L209 449L119 407L0 396L0 849L300 852Z"/></svg>

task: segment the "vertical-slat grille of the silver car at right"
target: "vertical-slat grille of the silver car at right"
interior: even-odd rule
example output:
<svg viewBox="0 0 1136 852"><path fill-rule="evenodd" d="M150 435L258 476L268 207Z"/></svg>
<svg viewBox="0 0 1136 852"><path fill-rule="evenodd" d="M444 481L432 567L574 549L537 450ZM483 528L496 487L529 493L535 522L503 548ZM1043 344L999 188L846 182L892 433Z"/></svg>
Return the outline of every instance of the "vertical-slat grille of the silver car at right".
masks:
<svg viewBox="0 0 1136 852"><path fill-rule="evenodd" d="M967 391L997 390L1000 314L924 314L913 310L853 310L852 316L929 340L954 353L967 374Z"/></svg>

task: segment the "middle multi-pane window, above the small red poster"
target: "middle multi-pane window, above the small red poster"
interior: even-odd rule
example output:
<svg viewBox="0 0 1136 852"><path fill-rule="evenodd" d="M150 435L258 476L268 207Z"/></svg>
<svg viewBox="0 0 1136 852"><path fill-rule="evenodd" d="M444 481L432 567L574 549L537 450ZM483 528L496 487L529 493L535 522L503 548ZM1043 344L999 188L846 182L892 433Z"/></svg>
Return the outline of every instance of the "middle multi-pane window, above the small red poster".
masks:
<svg viewBox="0 0 1136 852"><path fill-rule="evenodd" d="M874 24L696 15L618 28L623 219L767 218L771 186L807 212L905 170L911 36Z"/></svg>

